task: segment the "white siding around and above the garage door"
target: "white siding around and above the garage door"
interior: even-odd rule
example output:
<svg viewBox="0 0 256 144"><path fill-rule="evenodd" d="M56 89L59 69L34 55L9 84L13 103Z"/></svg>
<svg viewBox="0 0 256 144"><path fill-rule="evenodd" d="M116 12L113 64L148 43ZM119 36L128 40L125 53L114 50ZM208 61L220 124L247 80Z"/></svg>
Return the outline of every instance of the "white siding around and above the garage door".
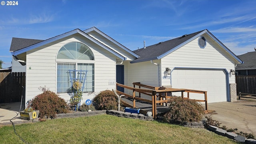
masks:
<svg viewBox="0 0 256 144"><path fill-rule="evenodd" d="M163 76L165 68L173 70L174 67L182 68L223 68L230 72L234 69L234 58L225 52L216 42L211 41L208 35L206 47L198 46L198 38L175 50L171 54L161 59L161 74ZM229 76L229 83L235 83L235 76ZM162 80L162 85L170 85L170 80Z"/></svg>

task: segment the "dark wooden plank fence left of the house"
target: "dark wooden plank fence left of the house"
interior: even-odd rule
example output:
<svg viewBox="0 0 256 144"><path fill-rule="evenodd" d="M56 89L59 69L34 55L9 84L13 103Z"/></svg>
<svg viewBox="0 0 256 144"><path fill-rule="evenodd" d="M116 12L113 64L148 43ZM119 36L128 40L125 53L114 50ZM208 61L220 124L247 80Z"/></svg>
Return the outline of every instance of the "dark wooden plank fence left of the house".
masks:
<svg viewBox="0 0 256 144"><path fill-rule="evenodd" d="M25 83L25 72L0 72L0 103L20 102Z"/></svg>

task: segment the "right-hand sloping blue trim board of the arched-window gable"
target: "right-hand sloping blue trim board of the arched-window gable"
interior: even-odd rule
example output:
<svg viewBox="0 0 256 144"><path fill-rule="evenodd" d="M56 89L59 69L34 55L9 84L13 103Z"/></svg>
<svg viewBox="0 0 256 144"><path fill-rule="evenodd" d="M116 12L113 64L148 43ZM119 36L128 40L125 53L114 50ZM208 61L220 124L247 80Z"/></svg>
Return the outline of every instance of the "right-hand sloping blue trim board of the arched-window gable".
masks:
<svg viewBox="0 0 256 144"><path fill-rule="evenodd" d="M121 60L126 60L127 58L125 58L124 56L122 56L121 54L118 54L117 52L111 50L111 48L108 48L108 46L102 44L101 42L99 42L98 40L95 40L94 38L92 38L91 36L89 36L88 34L86 34L85 32L79 31L79 34L81 34L82 36L88 38L89 40L91 40L92 42L98 44L100 47L104 48L105 50L107 50L108 52L114 54L115 56L117 56L118 58L120 58Z"/></svg>

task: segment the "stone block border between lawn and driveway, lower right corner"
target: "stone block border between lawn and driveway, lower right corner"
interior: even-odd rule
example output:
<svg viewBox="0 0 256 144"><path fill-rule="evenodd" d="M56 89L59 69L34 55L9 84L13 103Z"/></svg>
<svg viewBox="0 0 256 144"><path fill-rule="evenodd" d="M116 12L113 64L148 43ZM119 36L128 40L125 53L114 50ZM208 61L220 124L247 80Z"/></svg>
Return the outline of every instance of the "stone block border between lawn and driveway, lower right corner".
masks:
<svg viewBox="0 0 256 144"><path fill-rule="evenodd" d="M246 137L235 134L234 132L227 132L226 130L223 130L222 128L218 128L217 126L208 126L208 130L215 132L216 134L219 134L221 136L226 136L238 142L243 142L246 144L256 144L256 140L254 139L251 139L251 138L247 139Z"/></svg>

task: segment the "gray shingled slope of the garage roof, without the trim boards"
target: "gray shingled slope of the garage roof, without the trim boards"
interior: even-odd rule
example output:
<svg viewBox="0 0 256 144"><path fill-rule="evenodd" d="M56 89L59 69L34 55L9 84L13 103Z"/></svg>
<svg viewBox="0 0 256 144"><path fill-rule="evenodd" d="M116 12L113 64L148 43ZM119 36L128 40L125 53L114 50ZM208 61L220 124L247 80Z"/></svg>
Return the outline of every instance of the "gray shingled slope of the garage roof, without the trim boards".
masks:
<svg viewBox="0 0 256 144"><path fill-rule="evenodd" d="M143 62L143 61L148 61L148 60L155 60L157 59L157 56L160 56L172 48L175 48L176 46L182 44L183 42L186 42L193 36L196 36L200 32L204 30L201 30L199 32L195 32L192 34L187 34L184 36L181 36L179 38L174 38L172 40L167 40L165 42L159 42L158 44L154 44L152 46L146 46L146 48L140 48L138 50L134 50L133 52L137 55L140 56L140 58L137 58L136 60L133 60L132 63L134 62Z"/></svg>

